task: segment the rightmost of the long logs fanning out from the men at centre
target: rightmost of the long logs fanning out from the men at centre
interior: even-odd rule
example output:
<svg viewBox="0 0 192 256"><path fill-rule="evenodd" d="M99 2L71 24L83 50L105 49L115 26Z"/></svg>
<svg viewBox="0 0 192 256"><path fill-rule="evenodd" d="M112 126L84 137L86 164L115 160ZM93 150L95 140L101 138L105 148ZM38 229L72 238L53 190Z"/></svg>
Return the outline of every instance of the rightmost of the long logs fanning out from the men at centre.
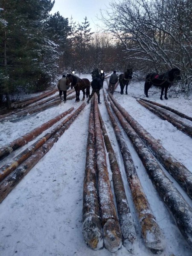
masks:
<svg viewBox="0 0 192 256"><path fill-rule="evenodd" d="M146 131L124 108L111 97L113 103L125 117L127 122L140 136L143 142L151 149L153 154L157 157L160 163L166 170L177 180L180 186L186 191L190 198L192 198L192 173L180 163L172 154L169 153L163 146Z"/></svg>

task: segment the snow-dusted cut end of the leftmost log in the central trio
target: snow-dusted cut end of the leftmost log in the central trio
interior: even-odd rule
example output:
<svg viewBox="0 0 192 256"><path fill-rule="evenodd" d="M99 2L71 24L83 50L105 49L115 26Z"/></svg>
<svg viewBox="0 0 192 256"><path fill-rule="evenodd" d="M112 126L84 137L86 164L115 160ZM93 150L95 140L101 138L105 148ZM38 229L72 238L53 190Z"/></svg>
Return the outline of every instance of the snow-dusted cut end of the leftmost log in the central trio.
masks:
<svg viewBox="0 0 192 256"><path fill-rule="evenodd" d="M85 243L91 249L98 250L103 247L101 221L96 215L90 215L84 220L82 232Z"/></svg>

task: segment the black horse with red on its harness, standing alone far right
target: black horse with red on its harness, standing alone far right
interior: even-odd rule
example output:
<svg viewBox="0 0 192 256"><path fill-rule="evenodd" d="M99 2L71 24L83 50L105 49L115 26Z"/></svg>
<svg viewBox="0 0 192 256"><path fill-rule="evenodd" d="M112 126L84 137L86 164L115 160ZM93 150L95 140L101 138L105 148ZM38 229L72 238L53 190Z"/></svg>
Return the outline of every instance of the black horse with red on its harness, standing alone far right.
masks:
<svg viewBox="0 0 192 256"><path fill-rule="evenodd" d="M152 85L161 87L161 96L160 99L163 100L163 91L165 89L165 99L167 98L167 90L169 86L172 86L174 80L180 80L180 70L178 68L173 68L162 75L157 73L150 73L146 76L145 79L145 95L148 98L148 90Z"/></svg>

